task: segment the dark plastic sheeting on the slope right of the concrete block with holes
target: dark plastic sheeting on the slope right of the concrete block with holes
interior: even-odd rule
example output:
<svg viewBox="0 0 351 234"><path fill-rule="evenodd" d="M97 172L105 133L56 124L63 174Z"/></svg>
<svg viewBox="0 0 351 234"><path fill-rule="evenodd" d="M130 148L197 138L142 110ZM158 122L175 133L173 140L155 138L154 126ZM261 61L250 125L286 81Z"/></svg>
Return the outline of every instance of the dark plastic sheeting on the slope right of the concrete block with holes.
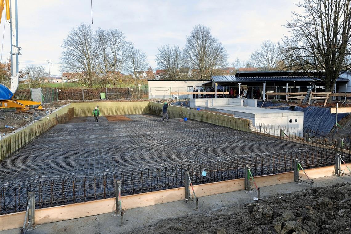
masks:
<svg viewBox="0 0 351 234"><path fill-rule="evenodd" d="M283 103L271 103L265 102L263 107L269 106L282 106ZM287 104L288 105L288 104ZM257 101L257 106L262 106L262 101ZM279 107L277 109L287 110L287 111L303 111L304 112L304 133L317 132L321 135L326 135L330 133L331 129L335 125L336 114L330 113L330 108L317 107L317 106L287 106ZM338 114L338 121L347 116L348 113ZM312 134L314 135L314 134Z"/></svg>

